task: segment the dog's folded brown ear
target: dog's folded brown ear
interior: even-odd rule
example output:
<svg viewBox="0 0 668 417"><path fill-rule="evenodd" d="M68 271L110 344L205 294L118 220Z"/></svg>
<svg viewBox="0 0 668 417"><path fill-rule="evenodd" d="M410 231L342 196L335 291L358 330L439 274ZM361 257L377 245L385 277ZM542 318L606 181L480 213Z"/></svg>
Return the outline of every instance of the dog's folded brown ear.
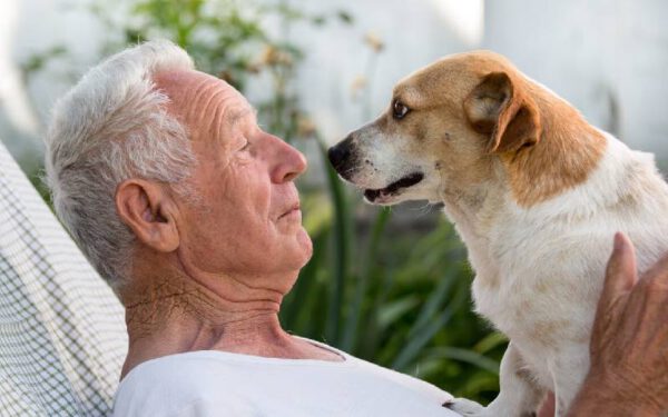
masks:
<svg viewBox="0 0 668 417"><path fill-rule="evenodd" d="M538 109L505 72L491 72L464 100L475 131L490 136L489 152L513 152L540 138Z"/></svg>

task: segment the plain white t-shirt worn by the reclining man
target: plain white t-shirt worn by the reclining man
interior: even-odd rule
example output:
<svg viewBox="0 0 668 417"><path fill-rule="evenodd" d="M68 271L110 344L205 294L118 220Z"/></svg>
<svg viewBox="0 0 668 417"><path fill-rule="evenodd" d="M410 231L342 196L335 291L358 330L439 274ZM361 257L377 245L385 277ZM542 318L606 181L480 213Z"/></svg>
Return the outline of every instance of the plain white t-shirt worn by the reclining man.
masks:
<svg viewBox="0 0 668 417"><path fill-rule="evenodd" d="M165 356L120 383L115 417L452 417L452 396L420 379L352 357L279 359L219 350Z"/></svg>

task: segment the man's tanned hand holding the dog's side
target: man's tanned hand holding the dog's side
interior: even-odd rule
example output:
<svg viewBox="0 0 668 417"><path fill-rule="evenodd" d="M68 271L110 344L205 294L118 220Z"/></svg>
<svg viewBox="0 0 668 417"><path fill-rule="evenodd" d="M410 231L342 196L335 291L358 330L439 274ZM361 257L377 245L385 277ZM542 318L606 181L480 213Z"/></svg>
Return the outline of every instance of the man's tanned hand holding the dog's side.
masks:
<svg viewBox="0 0 668 417"><path fill-rule="evenodd" d="M590 353L591 368L569 416L668 411L668 256L638 279L632 244L615 236Z"/></svg>

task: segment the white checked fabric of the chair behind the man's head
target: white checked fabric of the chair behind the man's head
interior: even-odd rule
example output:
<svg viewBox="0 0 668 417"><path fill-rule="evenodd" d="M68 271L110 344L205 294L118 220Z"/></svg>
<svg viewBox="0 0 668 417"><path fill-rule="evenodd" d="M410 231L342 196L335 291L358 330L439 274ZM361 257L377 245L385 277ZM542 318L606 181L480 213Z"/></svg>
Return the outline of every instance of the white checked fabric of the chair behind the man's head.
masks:
<svg viewBox="0 0 668 417"><path fill-rule="evenodd" d="M122 307L0 143L0 416L110 414Z"/></svg>

